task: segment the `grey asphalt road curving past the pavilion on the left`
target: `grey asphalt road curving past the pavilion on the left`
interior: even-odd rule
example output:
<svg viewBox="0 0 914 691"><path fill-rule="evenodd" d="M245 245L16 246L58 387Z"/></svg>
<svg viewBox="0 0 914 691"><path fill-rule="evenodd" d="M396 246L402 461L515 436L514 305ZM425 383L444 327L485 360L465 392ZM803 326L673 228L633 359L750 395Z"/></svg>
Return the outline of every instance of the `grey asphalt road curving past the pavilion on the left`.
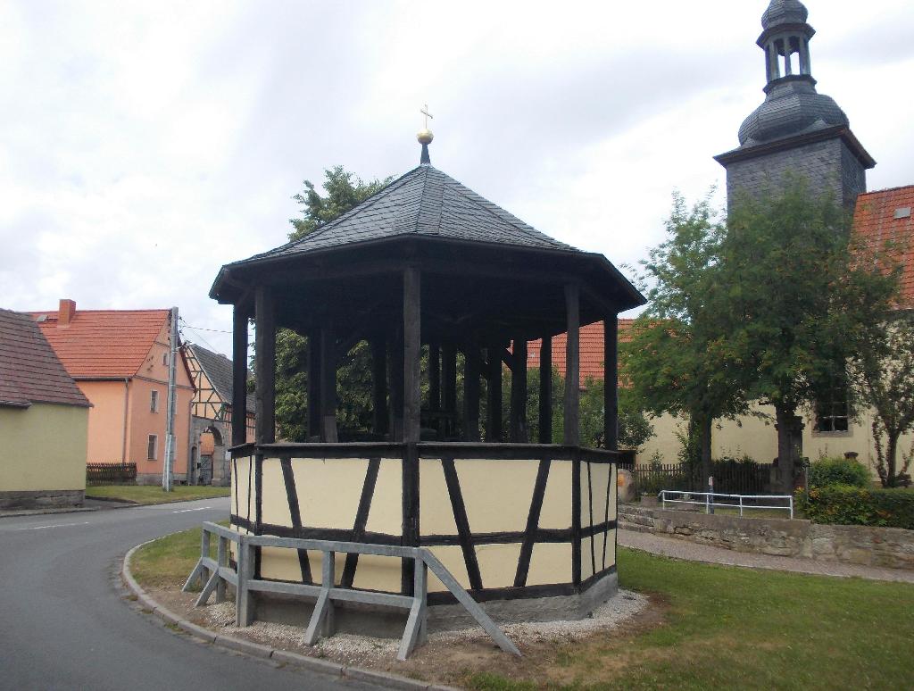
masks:
<svg viewBox="0 0 914 691"><path fill-rule="evenodd" d="M121 600L130 547L227 515L219 498L0 518L0 688L373 688L196 643Z"/></svg>

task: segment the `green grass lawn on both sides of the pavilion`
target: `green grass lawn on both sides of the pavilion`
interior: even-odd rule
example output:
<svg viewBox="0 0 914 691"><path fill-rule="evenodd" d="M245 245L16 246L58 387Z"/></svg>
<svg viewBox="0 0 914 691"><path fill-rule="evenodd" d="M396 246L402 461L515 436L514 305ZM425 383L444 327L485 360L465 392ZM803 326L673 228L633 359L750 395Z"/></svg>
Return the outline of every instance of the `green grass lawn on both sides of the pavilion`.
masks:
<svg viewBox="0 0 914 691"><path fill-rule="evenodd" d="M147 587L177 587L199 549L199 529L156 540L134 555L133 574ZM528 680L458 670L460 686L914 688L912 585L712 566L622 547L619 573L623 588L662 603L663 622L557 641Z"/></svg>

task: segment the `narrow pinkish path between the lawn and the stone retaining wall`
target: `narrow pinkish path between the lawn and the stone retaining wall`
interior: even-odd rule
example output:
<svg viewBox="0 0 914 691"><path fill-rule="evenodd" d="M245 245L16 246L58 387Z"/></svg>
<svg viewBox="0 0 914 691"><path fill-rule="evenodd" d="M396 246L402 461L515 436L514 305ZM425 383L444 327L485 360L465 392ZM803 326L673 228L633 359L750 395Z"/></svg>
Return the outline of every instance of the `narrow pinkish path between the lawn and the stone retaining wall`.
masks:
<svg viewBox="0 0 914 691"><path fill-rule="evenodd" d="M872 580L898 580L914 583L914 571L904 569L883 569L880 567L856 566L852 564L835 564L815 559L795 557L775 557L767 554L734 552L723 547L698 545L675 537L662 537L650 533L639 533L632 530L619 530L619 544L623 547L642 549L652 554L663 555L689 561L705 561L710 564L728 564L731 566L749 567L750 569L773 569L776 571L795 571L813 573L821 576L857 577Z"/></svg>

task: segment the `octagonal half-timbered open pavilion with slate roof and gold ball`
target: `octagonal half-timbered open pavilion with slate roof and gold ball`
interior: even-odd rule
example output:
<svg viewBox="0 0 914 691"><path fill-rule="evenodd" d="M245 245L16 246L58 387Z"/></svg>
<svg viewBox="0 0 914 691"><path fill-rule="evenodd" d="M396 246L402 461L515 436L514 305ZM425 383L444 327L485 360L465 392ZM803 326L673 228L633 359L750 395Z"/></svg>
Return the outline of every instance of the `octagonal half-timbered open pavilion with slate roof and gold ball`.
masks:
<svg viewBox="0 0 914 691"><path fill-rule="evenodd" d="M616 315L643 297L605 257L549 238L421 163L310 235L222 267L210 296L234 306L234 405L245 402L256 321L256 434L233 418L231 525L280 537L429 547L477 600L530 616L584 616L616 589L616 388L607 449L579 444L579 328L605 321L616 381ZM275 441L276 330L307 337L311 443ZM564 443L551 441L551 378L539 439L526 432L530 340L567 333ZM374 424L336 425L336 368L372 353ZM422 362L427 362L427 367ZM503 425L501 374L511 370ZM548 347L540 367L550 371ZM462 377L458 377L462 367ZM462 381L461 381L462 378ZM482 383L488 413L480 432ZM364 441L370 439L373 441ZM312 581L320 552L263 547L262 579ZM340 556L345 587L407 592L407 563ZM450 601L431 578L429 602ZM535 606L530 598L542 598Z"/></svg>

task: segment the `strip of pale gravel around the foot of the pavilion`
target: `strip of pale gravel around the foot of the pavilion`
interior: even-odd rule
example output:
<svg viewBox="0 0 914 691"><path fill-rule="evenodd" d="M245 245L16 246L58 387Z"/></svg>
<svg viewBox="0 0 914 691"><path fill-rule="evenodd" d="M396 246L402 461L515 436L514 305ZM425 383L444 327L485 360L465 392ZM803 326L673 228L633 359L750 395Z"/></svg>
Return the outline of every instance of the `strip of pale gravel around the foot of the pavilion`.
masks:
<svg viewBox="0 0 914 691"><path fill-rule="evenodd" d="M600 605L588 619L562 622L526 622L504 624L502 630L518 644L549 641L573 642L598 631L611 631L632 619L648 604L647 598L629 590L619 590L610 601ZM228 635L240 635L258 643L303 654L327 657L341 664L389 663L397 656L399 639L374 638L353 633L336 633L321 639L314 648L304 644L304 628L272 622L253 622L249 627L235 627L234 602L222 602L205 608L207 625ZM473 626L448 632L430 633L429 643L484 643L489 640L482 627ZM421 650L421 649L420 649Z"/></svg>

